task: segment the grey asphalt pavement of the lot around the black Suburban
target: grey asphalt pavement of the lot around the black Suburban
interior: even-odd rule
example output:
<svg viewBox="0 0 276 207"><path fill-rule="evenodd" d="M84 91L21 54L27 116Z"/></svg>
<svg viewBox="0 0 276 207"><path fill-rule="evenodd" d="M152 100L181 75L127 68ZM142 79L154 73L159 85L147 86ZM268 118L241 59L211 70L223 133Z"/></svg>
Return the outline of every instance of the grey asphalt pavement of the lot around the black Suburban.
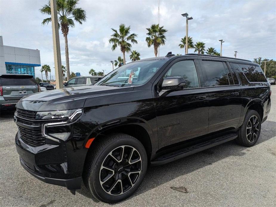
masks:
<svg viewBox="0 0 276 207"><path fill-rule="evenodd" d="M0 206L276 206L276 86L271 99L255 146L231 141L149 167L138 191L117 204L95 200L84 186L73 195L30 175L16 152L13 112L1 112Z"/></svg>

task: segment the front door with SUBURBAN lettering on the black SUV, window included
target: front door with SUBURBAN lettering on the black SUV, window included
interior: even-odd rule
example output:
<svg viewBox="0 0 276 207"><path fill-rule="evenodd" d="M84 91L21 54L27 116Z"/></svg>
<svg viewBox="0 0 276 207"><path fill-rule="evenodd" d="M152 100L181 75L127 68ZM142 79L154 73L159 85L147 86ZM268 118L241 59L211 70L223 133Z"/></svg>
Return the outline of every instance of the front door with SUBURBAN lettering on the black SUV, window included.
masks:
<svg viewBox="0 0 276 207"><path fill-rule="evenodd" d="M186 84L154 98L159 148L208 133L207 90L200 88L198 73L194 60L176 59L161 78L181 76Z"/></svg>

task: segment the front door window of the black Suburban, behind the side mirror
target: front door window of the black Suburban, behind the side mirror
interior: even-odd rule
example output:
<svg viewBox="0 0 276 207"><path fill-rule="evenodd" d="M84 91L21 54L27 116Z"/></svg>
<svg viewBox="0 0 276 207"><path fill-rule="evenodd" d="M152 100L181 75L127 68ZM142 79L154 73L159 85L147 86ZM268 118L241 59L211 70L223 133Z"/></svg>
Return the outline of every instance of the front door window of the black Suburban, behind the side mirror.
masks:
<svg viewBox="0 0 276 207"><path fill-rule="evenodd" d="M164 78L174 76L180 76L185 79L185 88L199 87L198 74L195 69L194 61L192 60L184 60L175 63L166 73Z"/></svg>

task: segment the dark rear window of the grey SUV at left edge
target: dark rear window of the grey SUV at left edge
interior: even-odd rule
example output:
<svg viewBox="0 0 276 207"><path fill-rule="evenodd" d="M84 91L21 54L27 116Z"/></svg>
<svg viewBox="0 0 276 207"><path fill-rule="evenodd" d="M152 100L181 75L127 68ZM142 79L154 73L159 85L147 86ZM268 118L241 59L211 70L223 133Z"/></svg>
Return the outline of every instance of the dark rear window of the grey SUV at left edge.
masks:
<svg viewBox="0 0 276 207"><path fill-rule="evenodd" d="M30 86L30 85L36 85L36 81L34 78L30 78L30 77L1 76L1 84L2 86Z"/></svg>

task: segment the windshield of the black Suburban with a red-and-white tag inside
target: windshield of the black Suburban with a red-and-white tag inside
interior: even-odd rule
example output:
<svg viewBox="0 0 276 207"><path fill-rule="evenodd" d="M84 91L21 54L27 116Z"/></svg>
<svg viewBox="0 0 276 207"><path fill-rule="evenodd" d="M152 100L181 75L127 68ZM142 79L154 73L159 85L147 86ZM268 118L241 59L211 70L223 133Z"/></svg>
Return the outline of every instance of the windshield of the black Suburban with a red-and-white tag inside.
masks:
<svg viewBox="0 0 276 207"><path fill-rule="evenodd" d="M139 86L146 83L166 62L166 59L138 61L123 65L110 72L95 85L101 86Z"/></svg>

